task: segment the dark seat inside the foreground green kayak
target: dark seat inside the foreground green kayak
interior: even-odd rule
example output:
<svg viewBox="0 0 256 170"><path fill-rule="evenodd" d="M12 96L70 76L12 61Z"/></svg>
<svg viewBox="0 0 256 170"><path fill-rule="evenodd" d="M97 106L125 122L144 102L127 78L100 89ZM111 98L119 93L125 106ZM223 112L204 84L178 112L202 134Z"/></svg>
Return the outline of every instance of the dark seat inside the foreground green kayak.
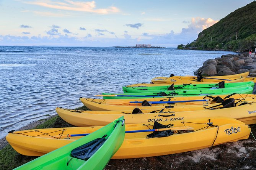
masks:
<svg viewBox="0 0 256 170"><path fill-rule="evenodd" d="M107 140L105 137L106 135L73 149L71 151L71 156L77 159L88 160Z"/></svg>

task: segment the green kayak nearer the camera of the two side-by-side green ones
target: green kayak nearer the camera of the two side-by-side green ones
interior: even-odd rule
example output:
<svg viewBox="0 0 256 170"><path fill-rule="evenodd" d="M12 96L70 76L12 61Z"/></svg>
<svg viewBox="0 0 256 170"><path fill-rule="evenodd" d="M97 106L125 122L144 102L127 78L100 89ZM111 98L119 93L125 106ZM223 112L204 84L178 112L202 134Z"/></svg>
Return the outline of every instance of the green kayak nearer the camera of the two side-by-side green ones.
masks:
<svg viewBox="0 0 256 170"><path fill-rule="evenodd" d="M251 94L252 87L241 88L217 88L211 90L166 90L144 93L102 93L104 99L136 99L136 98L156 98L171 96L199 96L199 95L229 95L232 93Z"/></svg>

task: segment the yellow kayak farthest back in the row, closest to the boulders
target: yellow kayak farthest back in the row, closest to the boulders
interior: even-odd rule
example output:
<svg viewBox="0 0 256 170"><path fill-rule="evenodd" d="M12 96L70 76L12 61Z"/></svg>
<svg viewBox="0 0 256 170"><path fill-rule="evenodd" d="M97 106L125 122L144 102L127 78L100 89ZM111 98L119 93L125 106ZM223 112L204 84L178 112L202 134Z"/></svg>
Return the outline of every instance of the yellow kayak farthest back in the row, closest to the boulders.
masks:
<svg viewBox="0 0 256 170"><path fill-rule="evenodd" d="M219 79L230 79L230 78L241 78L241 77L247 77L249 75L249 72L241 73L241 74L234 74L234 75L223 75L223 76L211 76L211 77L204 77L204 79L211 79L212 82L214 80L218 81ZM155 77L151 80L153 83L166 83L167 79L183 79L183 80L197 80L196 76L170 76L170 77ZM211 82L211 81L210 81Z"/></svg>

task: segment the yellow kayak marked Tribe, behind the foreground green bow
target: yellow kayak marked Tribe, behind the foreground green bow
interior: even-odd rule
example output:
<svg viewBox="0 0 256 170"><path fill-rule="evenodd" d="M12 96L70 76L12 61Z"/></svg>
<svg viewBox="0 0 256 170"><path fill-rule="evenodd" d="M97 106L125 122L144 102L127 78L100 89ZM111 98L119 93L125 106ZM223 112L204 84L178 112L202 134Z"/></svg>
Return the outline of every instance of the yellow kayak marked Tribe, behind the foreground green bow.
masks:
<svg viewBox="0 0 256 170"><path fill-rule="evenodd" d="M173 125L170 125L172 123ZM148 132L149 128L158 129L157 123L125 125L124 142L112 159L151 157L207 148L222 143L247 139L251 132L248 125L227 117L205 117L166 121L164 133ZM80 139L76 134L92 133L101 127L48 128L23 130L8 133L7 141L20 154L42 156L66 144ZM134 131L146 131L137 132ZM133 131L133 133L127 133ZM157 130L152 130L157 131ZM167 136L167 135L169 136ZM163 136L163 137L159 137Z"/></svg>

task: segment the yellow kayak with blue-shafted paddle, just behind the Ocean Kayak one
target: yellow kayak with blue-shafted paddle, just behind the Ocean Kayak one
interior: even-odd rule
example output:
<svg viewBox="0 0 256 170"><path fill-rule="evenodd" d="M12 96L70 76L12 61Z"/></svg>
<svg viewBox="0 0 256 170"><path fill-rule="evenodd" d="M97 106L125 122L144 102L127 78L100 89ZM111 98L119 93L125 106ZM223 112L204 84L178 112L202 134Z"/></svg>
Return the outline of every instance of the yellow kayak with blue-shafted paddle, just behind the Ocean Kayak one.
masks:
<svg viewBox="0 0 256 170"><path fill-rule="evenodd" d="M222 99L235 98L251 101L256 95L254 94L232 94L218 95ZM170 97L170 98L137 98L137 99L95 99L95 98L80 98L80 101L92 111L124 111L132 110L135 107L139 109L159 109L173 107L173 111L191 111L202 110L199 105L209 104L213 98L217 96L186 96L186 97ZM200 101L195 101L200 100ZM144 102L143 102L144 101ZM178 103L177 101L186 101ZM149 104L148 104L148 103ZM150 104L155 102L158 104ZM159 103L160 102L160 103ZM197 105L197 106L195 106Z"/></svg>

